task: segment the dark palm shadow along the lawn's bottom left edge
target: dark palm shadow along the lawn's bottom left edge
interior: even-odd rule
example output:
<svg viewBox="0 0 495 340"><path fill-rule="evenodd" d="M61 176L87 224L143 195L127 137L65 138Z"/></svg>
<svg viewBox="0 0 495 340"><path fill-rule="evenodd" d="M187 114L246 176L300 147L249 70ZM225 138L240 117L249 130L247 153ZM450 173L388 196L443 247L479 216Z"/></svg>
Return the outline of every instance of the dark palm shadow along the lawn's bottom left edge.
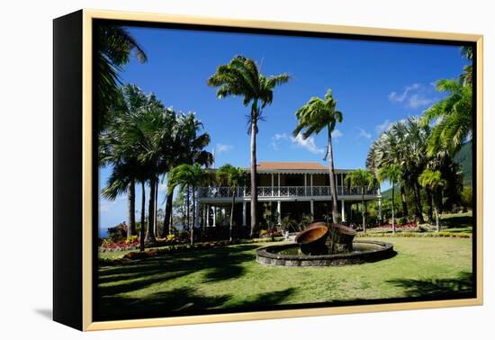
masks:
<svg viewBox="0 0 495 340"><path fill-rule="evenodd" d="M232 298L229 294L202 296L193 288L183 287L172 291L160 291L145 299L121 296L103 297L98 303L98 320L115 320L123 318L157 318L166 316L184 316L217 312L257 310L276 306L287 299L294 289L258 294L254 299L240 301L237 306L221 309ZM219 309L220 308L220 309Z"/></svg>

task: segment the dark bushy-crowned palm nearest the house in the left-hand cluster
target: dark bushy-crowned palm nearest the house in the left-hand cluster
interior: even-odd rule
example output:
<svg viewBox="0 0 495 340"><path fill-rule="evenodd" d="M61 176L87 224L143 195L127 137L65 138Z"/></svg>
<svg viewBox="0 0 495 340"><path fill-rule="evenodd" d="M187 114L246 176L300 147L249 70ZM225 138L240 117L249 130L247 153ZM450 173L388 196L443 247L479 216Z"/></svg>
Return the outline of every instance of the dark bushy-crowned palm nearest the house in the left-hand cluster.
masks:
<svg viewBox="0 0 495 340"><path fill-rule="evenodd" d="M161 166L163 173L170 172L175 166L181 164L211 165L213 157L210 152L204 150L210 144L210 135L201 131L202 122L193 112L187 114L181 112L175 116L173 132L169 136L168 144L164 146L168 148L164 150L164 154L171 155L171 157L163 159ZM171 232L173 201L174 192L167 192L162 237Z"/></svg>

